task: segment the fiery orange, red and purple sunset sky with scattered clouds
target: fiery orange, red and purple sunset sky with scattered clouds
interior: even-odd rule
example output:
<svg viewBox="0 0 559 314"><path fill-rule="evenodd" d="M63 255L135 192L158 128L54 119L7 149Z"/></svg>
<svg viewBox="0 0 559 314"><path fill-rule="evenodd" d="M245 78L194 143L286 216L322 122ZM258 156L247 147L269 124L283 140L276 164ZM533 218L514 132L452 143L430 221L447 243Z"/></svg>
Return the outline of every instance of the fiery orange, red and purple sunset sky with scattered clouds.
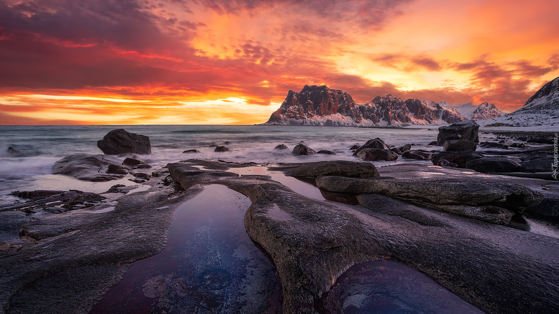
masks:
<svg viewBox="0 0 559 314"><path fill-rule="evenodd" d="M266 122L291 89L511 112L559 77L557 0L0 0L0 124Z"/></svg>

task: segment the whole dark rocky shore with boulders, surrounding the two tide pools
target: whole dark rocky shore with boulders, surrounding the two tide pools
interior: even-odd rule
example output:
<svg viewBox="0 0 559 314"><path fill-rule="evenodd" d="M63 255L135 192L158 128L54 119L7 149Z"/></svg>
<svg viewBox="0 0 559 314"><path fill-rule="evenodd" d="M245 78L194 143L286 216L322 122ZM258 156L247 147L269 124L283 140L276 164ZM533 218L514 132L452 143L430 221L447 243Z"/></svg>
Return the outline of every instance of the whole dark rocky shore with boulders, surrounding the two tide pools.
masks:
<svg viewBox="0 0 559 314"><path fill-rule="evenodd" d="M163 168L150 165L147 136L115 130L129 151L69 155L57 161L53 173L92 182L131 174L130 180L143 188L13 193L21 201L0 207L0 308L6 313L88 313L134 261L164 248L179 206L205 186L220 184L250 200L244 226L277 269L283 313L340 312L350 296L339 294L337 279L351 279L356 265L383 260L427 275L459 302L469 303L463 306L485 313L554 313L559 306L559 239L530 232L514 219L524 212L559 216L557 181L544 180L551 177L548 137L500 134L509 136L495 141L507 146L495 149L501 155L476 148L450 151L450 144L489 144L476 142L472 123L443 128L431 145L438 149L432 150L372 139L352 148L355 161L187 159ZM113 139L107 134L104 151L121 149L109 147L119 146ZM533 147L509 148L515 143ZM137 153L139 148L144 155ZM293 150L315 153L304 143ZM433 165L377 168L367 161L379 156ZM264 174L252 174L258 169ZM272 174L311 183L323 198L305 196ZM200 288L186 287L178 277L168 282L165 289L201 300L200 313L240 311L226 309L227 300L203 301ZM154 300L164 298L165 291ZM158 302L158 311L171 308Z"/></svg>

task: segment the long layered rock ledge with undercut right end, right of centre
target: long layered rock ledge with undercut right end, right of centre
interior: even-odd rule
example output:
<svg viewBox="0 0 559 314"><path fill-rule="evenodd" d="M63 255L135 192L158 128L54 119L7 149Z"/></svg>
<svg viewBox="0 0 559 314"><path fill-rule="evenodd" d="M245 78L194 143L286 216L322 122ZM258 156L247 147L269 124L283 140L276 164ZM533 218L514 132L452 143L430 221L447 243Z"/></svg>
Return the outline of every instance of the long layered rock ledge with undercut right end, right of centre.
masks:
<svg viewBox="0 0 559 314"><path fill-rule="evenodd" d="M316 185L329 192L347 194L380 193L420 206L456 213L499 225L510 221L543 200L543 194L522 185L439 178L354 179L316 178Z"/></svg>

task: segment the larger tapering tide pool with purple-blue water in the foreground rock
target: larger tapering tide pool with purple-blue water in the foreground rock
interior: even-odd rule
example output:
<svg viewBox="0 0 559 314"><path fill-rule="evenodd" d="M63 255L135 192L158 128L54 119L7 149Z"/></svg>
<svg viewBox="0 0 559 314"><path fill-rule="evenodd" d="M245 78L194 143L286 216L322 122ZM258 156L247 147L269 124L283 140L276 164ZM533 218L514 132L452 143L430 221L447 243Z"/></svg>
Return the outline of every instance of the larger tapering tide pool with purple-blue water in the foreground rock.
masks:
<svg viewBox="0 0 559 314"><path fill-rule="evenodd" d="M245 231L249 199L204 188L176 211L167 246L136 261L91 314L281 313L276 268Z"/></svg>

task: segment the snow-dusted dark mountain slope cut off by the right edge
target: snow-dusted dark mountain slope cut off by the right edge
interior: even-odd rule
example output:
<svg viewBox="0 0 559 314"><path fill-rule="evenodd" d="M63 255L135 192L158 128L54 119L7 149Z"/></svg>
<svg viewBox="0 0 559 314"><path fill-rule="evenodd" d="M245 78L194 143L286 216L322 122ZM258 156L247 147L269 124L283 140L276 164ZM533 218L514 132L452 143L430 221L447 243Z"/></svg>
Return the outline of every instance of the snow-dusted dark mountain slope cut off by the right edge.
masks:
<svg viewBox="0 0 559 314"><path fill-rule="evenodd" d="M511 125L534 125L559 123L559 77L543 85L526 104L517 111L498 118L478 121L479 125L495 122Z"/></svg>

